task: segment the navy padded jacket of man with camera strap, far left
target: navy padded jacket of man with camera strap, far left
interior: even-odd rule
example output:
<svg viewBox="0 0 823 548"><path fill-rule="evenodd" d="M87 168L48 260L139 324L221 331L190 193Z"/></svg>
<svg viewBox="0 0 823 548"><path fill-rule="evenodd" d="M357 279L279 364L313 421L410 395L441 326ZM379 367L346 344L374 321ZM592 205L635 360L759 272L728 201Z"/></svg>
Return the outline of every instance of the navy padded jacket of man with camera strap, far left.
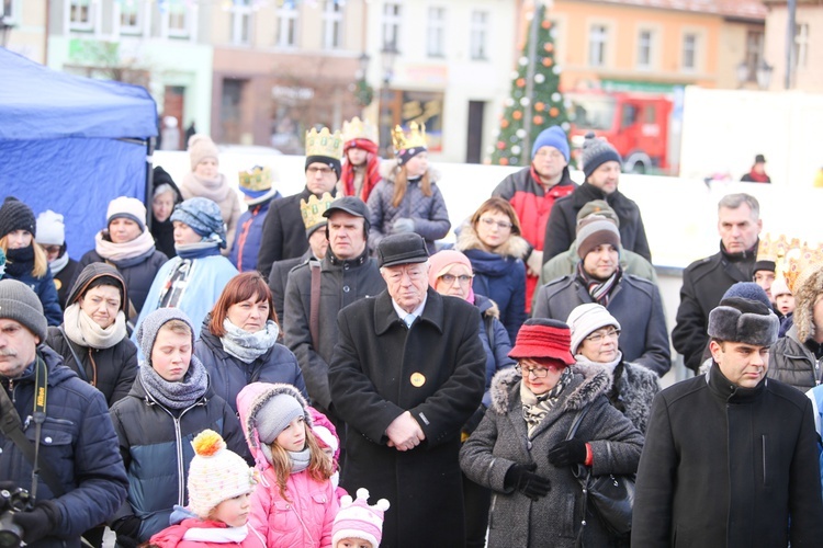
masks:
<svg viewBox="0 0 823 548"><path fill-rule="evenodd" d="M52 286L54 287L54 285ZM52 536L34 543L34 548L79 547L80 535L105 522L126 498L126 472L117 452L117 436L109 419L103 395L80 380L63 365L63 358L46 345L37 354L48 370L46 421L41 432L41 455L52 464L66 494L55 498L40 477L37 499L53 500L60 511L60 523ZM8 390L8 381L3 387ZM34 369L15 379L9 397L23 420L23 430L33 441L31 416L34 406ZM13 481L31 490L32 465L0 434L0 481Z"/></svg>

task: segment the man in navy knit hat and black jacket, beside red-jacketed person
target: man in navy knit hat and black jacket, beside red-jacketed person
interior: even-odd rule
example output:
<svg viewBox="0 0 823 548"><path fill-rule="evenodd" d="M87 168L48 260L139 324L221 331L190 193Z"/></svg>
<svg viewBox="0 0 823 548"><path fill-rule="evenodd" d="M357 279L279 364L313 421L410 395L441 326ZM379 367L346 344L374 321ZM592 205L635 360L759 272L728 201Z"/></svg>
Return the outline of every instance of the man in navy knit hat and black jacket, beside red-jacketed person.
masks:
<svg viewBox="0 0 823 548"><path fill-rule="evenodd" d="M583 144L583 173L586 181L572 194L554 203L545 225L543 264L572 246L577 213L593 199L605 199L617 213L623 248L652 261L640 208L618 190L621 164L622 159L615 147L591 133L586 135Z"/></svg>

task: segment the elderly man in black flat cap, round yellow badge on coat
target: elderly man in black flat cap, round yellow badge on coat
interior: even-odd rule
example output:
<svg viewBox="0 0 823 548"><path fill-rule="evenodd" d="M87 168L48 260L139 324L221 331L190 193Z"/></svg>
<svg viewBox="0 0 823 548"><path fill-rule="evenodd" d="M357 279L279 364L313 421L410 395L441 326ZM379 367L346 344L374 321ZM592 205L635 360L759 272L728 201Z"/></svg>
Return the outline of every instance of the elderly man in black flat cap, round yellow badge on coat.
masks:
<svg viewBox="0 0 823 548"><path fill-rule="evenodd" d="M386 290L337 317L331 403L346 421L341 486L392 501L382 547L463 546L460 432L485 389L476 307L428 285L414 233L377 246Z"/></svg>

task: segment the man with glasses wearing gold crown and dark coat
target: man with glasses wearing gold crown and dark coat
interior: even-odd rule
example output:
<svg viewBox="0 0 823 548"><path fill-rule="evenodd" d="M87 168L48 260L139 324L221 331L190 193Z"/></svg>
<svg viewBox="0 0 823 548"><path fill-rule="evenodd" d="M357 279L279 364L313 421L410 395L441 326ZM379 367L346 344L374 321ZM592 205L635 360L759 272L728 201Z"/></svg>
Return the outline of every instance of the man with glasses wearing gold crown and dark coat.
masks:
<svg viewBox="0 0 823 548"><path fill-rule="evenodd" d="M263 220L263 235L257 253L257 270L269 279L274 261L301 256L308 249L300 202L319 198L330 192L334 196L340 180L342 137L339 132L329 134L312 129L306 133L306 186L303 192L272 202Z"/></svg>

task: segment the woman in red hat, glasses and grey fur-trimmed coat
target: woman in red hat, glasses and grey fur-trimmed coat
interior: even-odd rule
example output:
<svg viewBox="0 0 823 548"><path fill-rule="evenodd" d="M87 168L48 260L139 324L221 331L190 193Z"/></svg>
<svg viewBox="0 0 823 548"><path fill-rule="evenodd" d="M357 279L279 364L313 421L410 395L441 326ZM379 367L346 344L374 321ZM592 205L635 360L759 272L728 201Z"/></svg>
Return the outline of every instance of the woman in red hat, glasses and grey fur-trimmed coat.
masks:
<svg viewBox="0 0 823 548"><path fill-rule="evenodd" d="M463 444L460 465L494 491L488 546L619 546L591 506L572 467L593 476L638 469L642 434L606 399L606 372L576 373L568 327L556 320L523 323L509 356L516 369L497 374L492 407ZM586 411L577 432L572 423ZM551 490L551 495L549 495Z"/></svg>

